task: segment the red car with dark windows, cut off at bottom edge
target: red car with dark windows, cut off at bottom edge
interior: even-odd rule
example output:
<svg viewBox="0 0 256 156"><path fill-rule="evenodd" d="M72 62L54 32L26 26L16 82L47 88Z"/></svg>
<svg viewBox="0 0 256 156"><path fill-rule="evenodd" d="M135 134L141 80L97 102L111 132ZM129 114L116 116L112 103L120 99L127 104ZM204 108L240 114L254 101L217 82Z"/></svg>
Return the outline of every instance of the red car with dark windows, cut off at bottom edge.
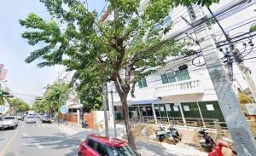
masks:
<svg viewBox="0 0 256 156"><path fill-rule="evenodd" d="M89 135L79 145L79 156L140 156L128 142L106 136Z"/></svg>

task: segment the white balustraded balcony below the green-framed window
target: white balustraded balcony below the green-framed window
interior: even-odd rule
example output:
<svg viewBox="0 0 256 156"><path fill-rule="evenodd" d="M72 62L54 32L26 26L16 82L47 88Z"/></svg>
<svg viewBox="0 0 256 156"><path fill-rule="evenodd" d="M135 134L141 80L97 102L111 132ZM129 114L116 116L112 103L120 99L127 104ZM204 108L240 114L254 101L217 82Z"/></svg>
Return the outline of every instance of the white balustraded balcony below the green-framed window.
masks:
<svg viewBox="0 0 256 156"><path fill-rule="evenodd" d="M170 96L170 95L189 95L202 94L204 90L201 87L200 80L185 80L170 84L161 84L155 87L154 96Z"/></svg>

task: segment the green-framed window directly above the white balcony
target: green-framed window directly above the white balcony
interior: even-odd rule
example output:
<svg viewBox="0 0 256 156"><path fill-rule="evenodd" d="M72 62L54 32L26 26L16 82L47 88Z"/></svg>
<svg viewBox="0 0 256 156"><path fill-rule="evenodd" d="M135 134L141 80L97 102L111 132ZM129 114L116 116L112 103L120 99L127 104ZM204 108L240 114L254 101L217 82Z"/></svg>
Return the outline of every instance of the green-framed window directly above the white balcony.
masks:
<svg viewBox="0 0 256 156"><path fill-rule="evenodd" d="M177 81L183 81L189 79L189 72L187 69L178 70L175 72L167 72L161 75L162 83L169 84Z"/></svg>

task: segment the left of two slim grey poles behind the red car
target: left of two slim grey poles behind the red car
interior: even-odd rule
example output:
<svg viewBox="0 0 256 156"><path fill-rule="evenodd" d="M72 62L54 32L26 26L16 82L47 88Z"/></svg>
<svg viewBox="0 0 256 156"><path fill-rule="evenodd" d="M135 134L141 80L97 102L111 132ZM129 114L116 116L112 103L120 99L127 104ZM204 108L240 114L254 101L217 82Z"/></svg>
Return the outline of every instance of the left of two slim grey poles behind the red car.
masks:
<svg viewBox="0 0 256 156"><path fill-rule="evenodd" d="M102 83L102 92L103 92L103 109L104 109L104 121L105 121L105 130L106 130L106 136L109 136L109 130L108 130L108 113L107 113L107 103L108 103L108 85L105 80L103 80Z"/></svg>

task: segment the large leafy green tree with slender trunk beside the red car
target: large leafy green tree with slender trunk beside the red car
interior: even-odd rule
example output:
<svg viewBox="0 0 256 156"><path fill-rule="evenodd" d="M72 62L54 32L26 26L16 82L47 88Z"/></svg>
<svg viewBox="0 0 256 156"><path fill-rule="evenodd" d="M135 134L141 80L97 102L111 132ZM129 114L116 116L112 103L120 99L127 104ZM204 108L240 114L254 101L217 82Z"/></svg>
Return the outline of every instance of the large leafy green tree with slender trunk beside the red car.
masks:
<svg viewBox="0 0 256 156"><path fill-rule="evenodd" d="M22 33L30 45L44 43L26 58L30 63L38 58L39 67L61 64L68 70L84 70L85 75L96 74L96 80L113 81L122 102L128 141L136 149L129 123L127 96L140 78L152 74L154 67L164 66L176 55L189 55L184 43L162 41L162 35L172 28L164 26L169 10L178 4L200 3L210 0L153 0L138 10L140 0L106 0L111 20L102 21L96 11L84 7L77 0L40 0L53 17L49 22L37 14L20 20L29 28ZM90 83L90 82L88 82Z"/></svg>

